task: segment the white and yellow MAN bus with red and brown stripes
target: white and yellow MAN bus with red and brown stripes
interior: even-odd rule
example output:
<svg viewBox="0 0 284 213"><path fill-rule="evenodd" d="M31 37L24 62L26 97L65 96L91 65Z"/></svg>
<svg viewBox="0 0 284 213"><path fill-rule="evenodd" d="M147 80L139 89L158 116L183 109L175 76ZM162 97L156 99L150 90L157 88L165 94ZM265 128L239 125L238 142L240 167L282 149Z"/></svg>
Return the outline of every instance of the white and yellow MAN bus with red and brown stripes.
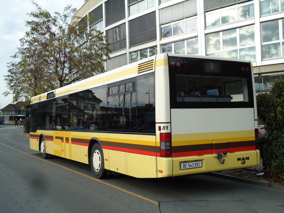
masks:
<svg viewBox="0 0 284 213"><path fill-rule="evenodd" d="M252 64L158 54L31 99L30 148L161 178L260 162Z"/></svg>

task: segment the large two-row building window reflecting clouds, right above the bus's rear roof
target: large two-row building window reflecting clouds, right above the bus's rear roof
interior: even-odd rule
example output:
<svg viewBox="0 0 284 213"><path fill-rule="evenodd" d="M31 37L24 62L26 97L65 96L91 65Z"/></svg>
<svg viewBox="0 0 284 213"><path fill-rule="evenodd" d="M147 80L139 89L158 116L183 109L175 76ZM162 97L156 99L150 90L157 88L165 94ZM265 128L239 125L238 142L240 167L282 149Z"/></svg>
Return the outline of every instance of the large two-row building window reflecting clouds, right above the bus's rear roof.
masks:
<svg viewBox="0 0 284 213"><path fill-rule="evenodd" d="M254 25L206 35L207 55L256 60Z"/></svg>

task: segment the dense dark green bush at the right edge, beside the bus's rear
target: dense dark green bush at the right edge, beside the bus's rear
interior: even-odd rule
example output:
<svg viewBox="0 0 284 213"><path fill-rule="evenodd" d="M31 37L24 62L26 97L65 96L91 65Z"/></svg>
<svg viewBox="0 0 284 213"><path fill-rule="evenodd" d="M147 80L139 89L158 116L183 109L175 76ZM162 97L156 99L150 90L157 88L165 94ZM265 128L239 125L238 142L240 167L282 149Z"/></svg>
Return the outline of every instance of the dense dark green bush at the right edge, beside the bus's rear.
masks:
<svg viewBox="0 0 284 213"><path fill-rule="evenodd" d="M268 136L261 144L262 157L275 178L281 179L284 177L284 79L276 79L270 92L257 95L256 100L258 116L264 121Z"/></svg>

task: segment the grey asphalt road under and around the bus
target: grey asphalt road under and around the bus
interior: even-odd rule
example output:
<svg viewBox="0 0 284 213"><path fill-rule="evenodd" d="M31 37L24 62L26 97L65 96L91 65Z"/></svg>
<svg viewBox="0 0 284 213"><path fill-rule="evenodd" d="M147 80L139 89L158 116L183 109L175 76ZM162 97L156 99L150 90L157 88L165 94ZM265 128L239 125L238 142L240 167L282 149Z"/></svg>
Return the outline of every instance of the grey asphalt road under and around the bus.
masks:
<svg viewBox="0 0 284 213"><path fill-rule="evenodd" d="M29 148L0 125L0 212L284 212L284 190L208 175L99 180L89 165Z"/></svg>

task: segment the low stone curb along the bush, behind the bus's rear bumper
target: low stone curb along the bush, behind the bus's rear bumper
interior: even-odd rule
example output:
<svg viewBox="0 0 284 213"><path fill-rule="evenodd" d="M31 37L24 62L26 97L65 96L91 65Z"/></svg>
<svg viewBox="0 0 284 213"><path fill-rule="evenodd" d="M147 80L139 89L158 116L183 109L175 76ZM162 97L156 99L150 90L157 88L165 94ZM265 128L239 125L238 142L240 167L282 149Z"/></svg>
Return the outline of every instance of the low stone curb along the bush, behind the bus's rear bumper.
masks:
<svg viewBox="0 0 284 213"><path fill-rule="evenodd" d="M240 181L240 182L244 182L244 183L250 183L250 184L254 184L254 185L258 185L258 186L269 187L269 188L273 188L273 189L284 190L284 186L276 185L276 184L273 184L273 183L268 183L268 181L260 182L260 181L256 181L256 180L250 180L250 179L220 174L220 173L217 173L217 172L210 172L210 173L208 173L208 175L218 177L218 178L225 178L225 179L228 179L228 180L235 180L235 181Z"/></svg>

